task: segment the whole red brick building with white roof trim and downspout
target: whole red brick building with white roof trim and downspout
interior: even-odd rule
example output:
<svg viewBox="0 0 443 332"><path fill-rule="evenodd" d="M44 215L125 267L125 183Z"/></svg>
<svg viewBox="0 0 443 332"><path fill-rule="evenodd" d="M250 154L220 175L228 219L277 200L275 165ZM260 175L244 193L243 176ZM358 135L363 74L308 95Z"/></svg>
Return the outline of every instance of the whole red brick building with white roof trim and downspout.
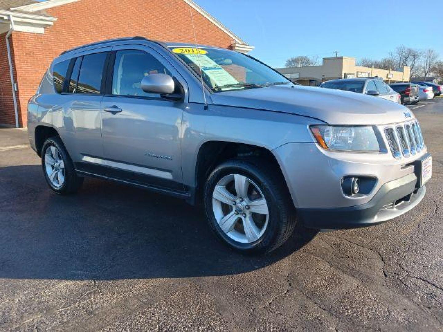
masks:
<svg viewBox="0 0 443 332"><path fill-rule="evenodd" d="M253 49L192 0L0 0L0 124L26 127L27 101L62 51L135 35L195 42L192 21L198 43Z"/></svg>

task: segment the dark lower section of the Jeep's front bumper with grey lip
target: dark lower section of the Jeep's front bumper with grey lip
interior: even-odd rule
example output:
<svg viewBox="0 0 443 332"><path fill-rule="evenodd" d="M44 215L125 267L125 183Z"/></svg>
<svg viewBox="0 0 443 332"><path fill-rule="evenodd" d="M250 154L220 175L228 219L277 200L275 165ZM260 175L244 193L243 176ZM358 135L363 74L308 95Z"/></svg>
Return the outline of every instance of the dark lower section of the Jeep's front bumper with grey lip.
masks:
<svg viewBox="0 0 443 332"><path fill-rule="evenodd" d="M381 224L396 218L423 199L426 187L416 188L417 177L409 174L381 186L366 204L343 208L299 208L299 218L309 228L343 229Z"/></svg>

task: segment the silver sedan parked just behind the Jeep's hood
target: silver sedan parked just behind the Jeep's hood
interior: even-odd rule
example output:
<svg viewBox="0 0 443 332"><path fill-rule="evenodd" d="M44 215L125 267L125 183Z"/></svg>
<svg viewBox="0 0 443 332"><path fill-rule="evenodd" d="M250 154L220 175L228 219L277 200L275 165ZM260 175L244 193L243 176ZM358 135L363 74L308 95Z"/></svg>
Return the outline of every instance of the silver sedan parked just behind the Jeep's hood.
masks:
<svg viewBox="0 0 443 332"><path fill-rule="evenodd" d="M401 102L399 93L396 93L389 85L379 78L341 78L338 80L331 80L323 82L319 85L320 88L345 90L356 93L363 93L374 97Z"/></svg>

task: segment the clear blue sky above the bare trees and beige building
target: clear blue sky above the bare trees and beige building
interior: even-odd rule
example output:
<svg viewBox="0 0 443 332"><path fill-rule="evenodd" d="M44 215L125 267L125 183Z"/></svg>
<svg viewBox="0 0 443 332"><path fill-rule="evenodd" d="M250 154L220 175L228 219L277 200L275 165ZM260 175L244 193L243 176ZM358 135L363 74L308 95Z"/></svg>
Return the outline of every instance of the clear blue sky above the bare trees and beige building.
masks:
<svg viewBox="0 0 443 332"><path fill-rule="evenodd" d="M400 45L433 48L443 58L441 1L194 1L255 46L251 55L274 67L283 67L291 56L318 54L321 59L335 50L379 59Z"/></svg>

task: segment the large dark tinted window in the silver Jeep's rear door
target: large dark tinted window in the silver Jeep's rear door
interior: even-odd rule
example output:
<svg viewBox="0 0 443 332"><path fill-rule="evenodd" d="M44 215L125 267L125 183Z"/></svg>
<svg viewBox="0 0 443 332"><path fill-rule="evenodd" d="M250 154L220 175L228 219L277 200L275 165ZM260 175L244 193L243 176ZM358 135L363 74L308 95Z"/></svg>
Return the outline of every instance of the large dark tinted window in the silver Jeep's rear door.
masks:
<svg viewBox="0 0 443 332"><path fill-rule="evenodd" d="M100 93L106 56L107 53L95 53L83 57L78 75L77 93Z"/></svg>

